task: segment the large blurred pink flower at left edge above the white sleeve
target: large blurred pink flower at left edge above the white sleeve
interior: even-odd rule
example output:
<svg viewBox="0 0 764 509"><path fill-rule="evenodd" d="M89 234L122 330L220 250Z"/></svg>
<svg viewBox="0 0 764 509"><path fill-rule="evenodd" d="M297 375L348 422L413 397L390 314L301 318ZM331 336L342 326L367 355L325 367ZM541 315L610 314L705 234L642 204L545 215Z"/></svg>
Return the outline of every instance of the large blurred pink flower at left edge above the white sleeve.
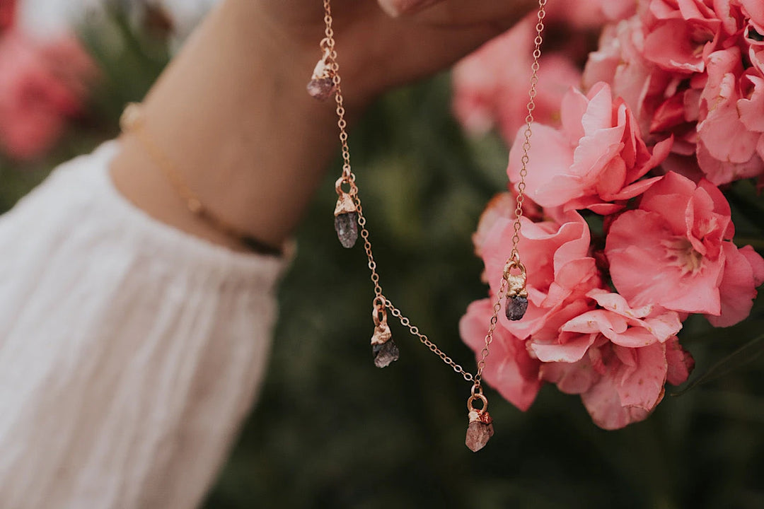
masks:
<svg viewBox="0 0 764 509"><path fill-rule="evenodd" d="M34 159L78 114L95 67L74 37L37 43L11 30L0 37L0 149Z"/></svg>

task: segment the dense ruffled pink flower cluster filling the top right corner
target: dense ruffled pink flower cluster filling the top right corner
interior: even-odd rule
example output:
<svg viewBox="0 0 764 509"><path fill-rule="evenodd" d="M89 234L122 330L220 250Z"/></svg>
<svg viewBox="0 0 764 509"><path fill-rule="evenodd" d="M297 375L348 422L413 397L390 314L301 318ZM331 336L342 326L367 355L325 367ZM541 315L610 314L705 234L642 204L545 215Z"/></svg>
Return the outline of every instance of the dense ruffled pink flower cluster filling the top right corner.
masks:
<svg viewBox="0 0 764 509"><path fill-rule="evenodd" d="M607 25L584 69L634 112L665 167L716 185L764 175L764 10L759 0L650 0Z"/></svg>

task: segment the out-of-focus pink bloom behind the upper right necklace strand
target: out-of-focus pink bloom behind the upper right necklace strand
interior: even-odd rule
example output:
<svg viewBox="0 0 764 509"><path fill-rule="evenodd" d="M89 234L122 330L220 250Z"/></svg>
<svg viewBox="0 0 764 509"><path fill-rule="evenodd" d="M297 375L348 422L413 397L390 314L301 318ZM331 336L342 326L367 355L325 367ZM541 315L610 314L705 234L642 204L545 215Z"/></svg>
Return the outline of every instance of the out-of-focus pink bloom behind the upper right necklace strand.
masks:
<svg viewBox="0 0 764 509"><path fill-rule="evenodd" d="M529 16L454 67L453 108L469 132L483 134L496 125L509 141L524 124L535 26L535 16ZM540 61L536 118L545 122L559 118L562 95L580 79L581 72L570 60L545 53Z"/></svg>

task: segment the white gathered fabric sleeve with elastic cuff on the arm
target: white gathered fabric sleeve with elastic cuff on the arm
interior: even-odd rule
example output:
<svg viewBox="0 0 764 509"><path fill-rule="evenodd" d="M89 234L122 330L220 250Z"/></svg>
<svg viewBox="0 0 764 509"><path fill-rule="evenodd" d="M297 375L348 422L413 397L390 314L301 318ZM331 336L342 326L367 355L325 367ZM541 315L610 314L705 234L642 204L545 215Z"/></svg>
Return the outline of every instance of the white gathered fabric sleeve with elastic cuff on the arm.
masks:
<svg viewBox="0 0 764 509"><path fill-rule="evenodd" d="M283 259L134 208L117 149L0 217L2 507L196 507L264 374Z"/></svg>

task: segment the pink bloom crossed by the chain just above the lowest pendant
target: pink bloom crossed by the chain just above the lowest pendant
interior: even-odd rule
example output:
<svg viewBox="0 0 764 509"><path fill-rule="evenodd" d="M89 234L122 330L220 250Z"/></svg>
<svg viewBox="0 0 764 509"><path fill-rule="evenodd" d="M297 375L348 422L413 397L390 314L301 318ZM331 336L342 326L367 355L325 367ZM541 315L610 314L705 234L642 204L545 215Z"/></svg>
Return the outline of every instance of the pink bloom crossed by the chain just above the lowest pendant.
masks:
<svg viewBox="0 0 764 509"><path fill-rule="evenodd" d="M459 321L461 338L480 353L485 344L488 321L493 313L490 299L474 301L467 314ZM522 411L528 410L541 387L537 359L529 356L525 344L504 327L494 331L490 345L490 361L486 362L483 377L503 398Z"/></svg>

